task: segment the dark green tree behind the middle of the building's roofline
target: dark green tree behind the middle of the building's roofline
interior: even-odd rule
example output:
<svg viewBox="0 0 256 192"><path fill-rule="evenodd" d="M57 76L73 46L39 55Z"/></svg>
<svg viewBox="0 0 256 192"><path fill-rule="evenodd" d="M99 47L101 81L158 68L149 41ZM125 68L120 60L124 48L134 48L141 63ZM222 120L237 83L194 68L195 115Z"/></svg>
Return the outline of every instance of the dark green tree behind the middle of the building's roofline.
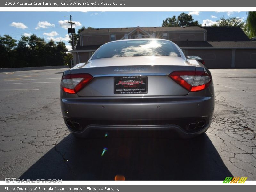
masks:
<svg viewBox="0 0 256 192"><path fill-rule="evenodd" d="M179 27L179 26L201 26L198 21L194 21L192 15L187 13L181 13L177 18L175 15L173 17L168 17L163 20L162 27Z"/></svg>

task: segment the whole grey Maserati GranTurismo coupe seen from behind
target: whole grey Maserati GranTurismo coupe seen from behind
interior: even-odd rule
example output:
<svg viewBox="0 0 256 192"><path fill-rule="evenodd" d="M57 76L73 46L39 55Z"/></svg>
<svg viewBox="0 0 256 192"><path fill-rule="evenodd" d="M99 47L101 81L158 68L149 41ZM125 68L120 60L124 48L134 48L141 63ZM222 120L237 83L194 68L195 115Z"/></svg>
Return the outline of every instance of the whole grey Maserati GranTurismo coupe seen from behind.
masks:
<svg viewBox="0 0 256 192"><path fill-rule="evenodd" d="M63 73L60 99L77 137L91 130L170 130L190 138L209 128L214 110L210 71L164 39L102 45Z"/></svg>

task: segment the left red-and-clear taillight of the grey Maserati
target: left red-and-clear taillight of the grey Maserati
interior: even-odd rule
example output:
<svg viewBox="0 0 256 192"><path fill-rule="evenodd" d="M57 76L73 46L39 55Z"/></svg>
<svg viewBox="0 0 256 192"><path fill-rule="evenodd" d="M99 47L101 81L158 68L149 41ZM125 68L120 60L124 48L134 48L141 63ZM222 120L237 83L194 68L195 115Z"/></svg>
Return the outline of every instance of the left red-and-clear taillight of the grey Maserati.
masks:
<svg viewBox="0 0 256 192"><path fill-rule="evenodd" d="M64 92L75 94L93 79L88 73L63 75L61 87Z"/></svg>

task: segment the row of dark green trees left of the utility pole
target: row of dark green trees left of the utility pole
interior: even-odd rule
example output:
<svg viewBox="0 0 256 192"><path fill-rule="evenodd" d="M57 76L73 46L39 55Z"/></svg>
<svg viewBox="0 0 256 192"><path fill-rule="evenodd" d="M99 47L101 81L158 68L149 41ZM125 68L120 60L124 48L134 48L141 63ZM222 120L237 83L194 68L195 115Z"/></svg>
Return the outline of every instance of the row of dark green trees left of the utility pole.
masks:
<svg viewBox="0 0 256 192"><path fill-rule="evenodd" d="M67 57L64 42L45 41L35 34L22 35L18 43L9 35L0 36L0 68L64 65Z"/></svg>

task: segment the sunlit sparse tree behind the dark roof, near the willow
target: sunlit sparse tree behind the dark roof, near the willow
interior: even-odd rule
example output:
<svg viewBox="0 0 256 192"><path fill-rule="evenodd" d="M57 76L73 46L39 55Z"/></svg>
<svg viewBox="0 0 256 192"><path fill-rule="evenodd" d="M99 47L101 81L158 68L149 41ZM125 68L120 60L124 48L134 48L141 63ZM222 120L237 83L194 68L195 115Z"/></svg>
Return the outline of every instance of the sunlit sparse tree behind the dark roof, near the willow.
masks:
<svg viewBox="0 0 256 192"><path fill-rule="evenodd" d="M216 21L216 24L213 24L212 26L222 26L222 27L240 27L245 31L245 21L242 18L236 18L236 17L229 17L225 18L220 17L219 20Z"/></svg>

